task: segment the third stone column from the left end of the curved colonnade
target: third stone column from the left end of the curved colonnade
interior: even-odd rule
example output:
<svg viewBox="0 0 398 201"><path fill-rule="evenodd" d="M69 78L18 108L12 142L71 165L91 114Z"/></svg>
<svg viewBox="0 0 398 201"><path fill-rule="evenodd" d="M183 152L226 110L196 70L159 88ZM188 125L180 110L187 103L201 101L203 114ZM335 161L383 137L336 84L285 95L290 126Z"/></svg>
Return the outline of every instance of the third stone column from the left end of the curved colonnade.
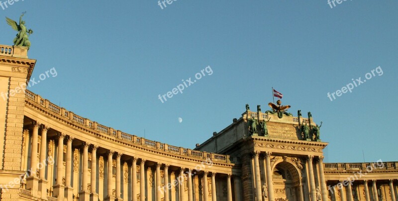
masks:
<svg viewBox="0 0 398 201"><path fill-rule="evenodd" d="M64 157L64 137L65 134L58 133L58 154L57 154L57 177L55 185L53 186L53 196L59 196L59 199L64 199L65 187L62 185L62 172L63 172L63 157Z"/></svg>

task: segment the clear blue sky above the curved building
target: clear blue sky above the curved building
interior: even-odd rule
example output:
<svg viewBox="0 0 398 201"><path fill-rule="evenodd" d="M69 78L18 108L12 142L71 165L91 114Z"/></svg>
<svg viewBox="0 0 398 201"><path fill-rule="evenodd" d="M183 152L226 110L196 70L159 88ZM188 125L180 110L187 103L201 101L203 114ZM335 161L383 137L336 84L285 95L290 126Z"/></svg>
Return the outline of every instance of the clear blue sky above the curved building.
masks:
<svg viewBox="0 0 398 201"><path fill-rule="evenodd" d="M398 1L172 2L19 0L0 7L0 44L16 34L5 16L27 11L32 77L57 71L29 90L125 133L194 148L246 103L267 110L274 87L295 116L323 122L326 162L363 162L363 152L398 161ZM158 99L207 66L182 94Z"/></svg>

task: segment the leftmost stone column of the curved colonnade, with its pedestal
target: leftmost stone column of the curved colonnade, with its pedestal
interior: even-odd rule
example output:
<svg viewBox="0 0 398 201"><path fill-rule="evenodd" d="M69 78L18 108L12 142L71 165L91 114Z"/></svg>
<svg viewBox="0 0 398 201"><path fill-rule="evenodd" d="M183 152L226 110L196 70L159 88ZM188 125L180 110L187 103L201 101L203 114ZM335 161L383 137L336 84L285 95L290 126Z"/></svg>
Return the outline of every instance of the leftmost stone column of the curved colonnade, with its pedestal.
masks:
<svg viewBox="0 0 398 201"><path fill-rule="evenodd" d="M39 179L36 176L39 125L38 122L33 123L32 144L30 149L30 175L26 178L26 189L31 189L32 196L34 197L38 197L37 192L39 191Z"/></svg>

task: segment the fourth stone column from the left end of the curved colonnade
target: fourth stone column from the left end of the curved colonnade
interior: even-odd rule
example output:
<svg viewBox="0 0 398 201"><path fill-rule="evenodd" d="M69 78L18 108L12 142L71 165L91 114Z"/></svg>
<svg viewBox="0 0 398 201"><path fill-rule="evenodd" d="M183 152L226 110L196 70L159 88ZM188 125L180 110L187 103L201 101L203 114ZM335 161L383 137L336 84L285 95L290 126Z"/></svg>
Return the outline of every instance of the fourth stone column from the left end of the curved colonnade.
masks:
<svg viewBox="0 0 398 201"><path fill-rule="evenodd" d="M66 163L65 163L65 197L68 201L73 200L73 188L71 186L71 178L72 178L72 136L67 136L66 138Z"/></svg>

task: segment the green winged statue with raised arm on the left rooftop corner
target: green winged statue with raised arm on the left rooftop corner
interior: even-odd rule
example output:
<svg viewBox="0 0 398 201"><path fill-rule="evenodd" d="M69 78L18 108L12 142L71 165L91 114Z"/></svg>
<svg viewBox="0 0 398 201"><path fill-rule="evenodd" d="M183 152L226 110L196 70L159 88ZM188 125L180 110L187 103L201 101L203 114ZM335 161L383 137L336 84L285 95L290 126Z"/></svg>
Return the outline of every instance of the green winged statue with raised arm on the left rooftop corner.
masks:
<svg viewBox="0 0 398 201"><path fill-rule="evenodd" d="M9 24L13 30L19 32L16 34L16 37L13 40L14 45L29 48L30 47L29 35L32 34L33 31L32 29L26 30L25 21L22 20L22 17L25 13L26 12L23 12L19 17L19 25L18 23L16 23L16 21L8 17L5 17L5 21L7 21L7 24Z"/></svg>

